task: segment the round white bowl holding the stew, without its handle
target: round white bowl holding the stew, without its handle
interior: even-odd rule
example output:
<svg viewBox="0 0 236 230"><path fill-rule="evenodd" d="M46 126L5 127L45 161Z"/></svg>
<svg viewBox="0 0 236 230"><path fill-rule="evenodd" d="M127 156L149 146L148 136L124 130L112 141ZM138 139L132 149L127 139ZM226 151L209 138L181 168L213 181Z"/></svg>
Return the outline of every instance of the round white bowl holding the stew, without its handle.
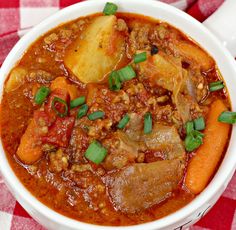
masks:
<svg viewBox="0 0 236 230"><path fill-rule="evenodd" d="M230 53L222 46L220 41L207 30L201 23L186 13L167 4L154 1L140 0L112 0L119 6L121 12L138 13L166 21L179 28L197 41L215 59L228 87L231 96L232 109L236 110L236 65ZM0 70L0 94L3 92L3 84L9 71L22 57L25 50L39 36L48 30L80 16L86 16L95 12L101 12L106 0L82 2L67 7L53 16L49 17L29 33L27 33L11 50ZM81 229L81 230L138 230L138 229L182 229L198 221L217 201L225 190L236 166L236 127L233 127L231 141L227 153L217 173L207 188L198 195L191 203L179 211L162 219L145 224L128 227L104 227L79 222L48 208L39 202L21 184L11 169L2 144L0 145L0 169L9 189L18 202L29 212L29 214L40 224L48 229ZM214 144L214 140L212 140Z"/></svg>

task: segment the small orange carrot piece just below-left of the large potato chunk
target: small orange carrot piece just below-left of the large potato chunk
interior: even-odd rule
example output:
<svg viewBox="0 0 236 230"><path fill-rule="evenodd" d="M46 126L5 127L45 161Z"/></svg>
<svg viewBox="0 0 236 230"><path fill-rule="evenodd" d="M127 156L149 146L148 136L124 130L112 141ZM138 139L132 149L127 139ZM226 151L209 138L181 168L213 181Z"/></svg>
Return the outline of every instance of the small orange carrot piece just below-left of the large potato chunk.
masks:
<svg viewBox="0 0 236 230"><path fill-rule="evenodd" d="M78 90L75 85L67 83L64 77L57 77L54 79L50 86L51 90L56 88L65 89L70 94L70 99L73 100L78 97Z"/></svg>

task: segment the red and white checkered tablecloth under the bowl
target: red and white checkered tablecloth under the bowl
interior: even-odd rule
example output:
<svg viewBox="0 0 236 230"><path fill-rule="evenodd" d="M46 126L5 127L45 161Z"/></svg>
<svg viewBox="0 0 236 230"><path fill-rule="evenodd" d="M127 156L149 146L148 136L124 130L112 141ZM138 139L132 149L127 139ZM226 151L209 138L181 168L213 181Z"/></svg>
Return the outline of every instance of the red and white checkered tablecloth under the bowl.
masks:
<svg viewBox="0 0 236 230"><path fill-rule="evenodd" d="M33 25L59 9L79 1L81 0L0 0L0 66L18 39ZM162 1L186 10L199 21L203 21L224 0ZM190 229L236 230L236 174L212 210ZM0 230L44 230L14 199L1 175Z"/></svg>

